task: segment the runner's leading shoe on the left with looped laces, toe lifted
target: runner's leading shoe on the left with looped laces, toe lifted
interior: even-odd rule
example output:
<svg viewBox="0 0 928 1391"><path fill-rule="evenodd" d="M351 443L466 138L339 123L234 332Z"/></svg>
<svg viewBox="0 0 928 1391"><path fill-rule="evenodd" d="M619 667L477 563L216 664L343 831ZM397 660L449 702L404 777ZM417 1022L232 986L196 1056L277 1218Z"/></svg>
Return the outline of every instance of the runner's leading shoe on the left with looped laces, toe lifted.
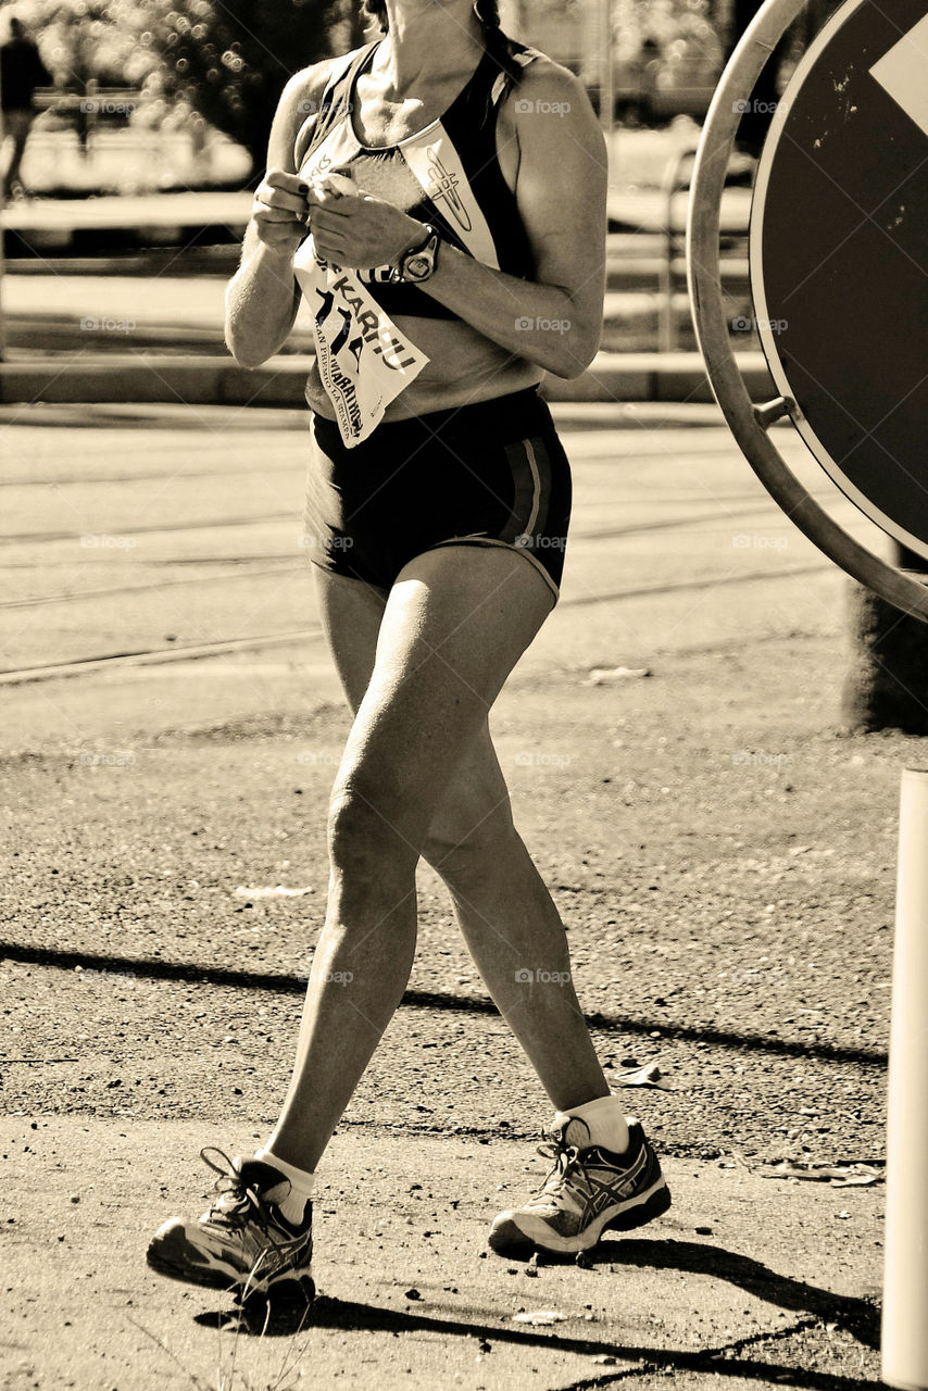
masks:
<svg viewBox="0 0 928 1391"><path fill-rule="evenodd" d="M217 1196L195 1221L171 1217L159 1227L147 1249L152 1270L193 1285L234 1289L239 1299L273 1294L312 1303L312 1202L302 1223L289 1223L275 1206L287 1196L289 1180L271 1164L232 1160L213 1146L202 1149L200 1157L220 1175Z"/></svg>

